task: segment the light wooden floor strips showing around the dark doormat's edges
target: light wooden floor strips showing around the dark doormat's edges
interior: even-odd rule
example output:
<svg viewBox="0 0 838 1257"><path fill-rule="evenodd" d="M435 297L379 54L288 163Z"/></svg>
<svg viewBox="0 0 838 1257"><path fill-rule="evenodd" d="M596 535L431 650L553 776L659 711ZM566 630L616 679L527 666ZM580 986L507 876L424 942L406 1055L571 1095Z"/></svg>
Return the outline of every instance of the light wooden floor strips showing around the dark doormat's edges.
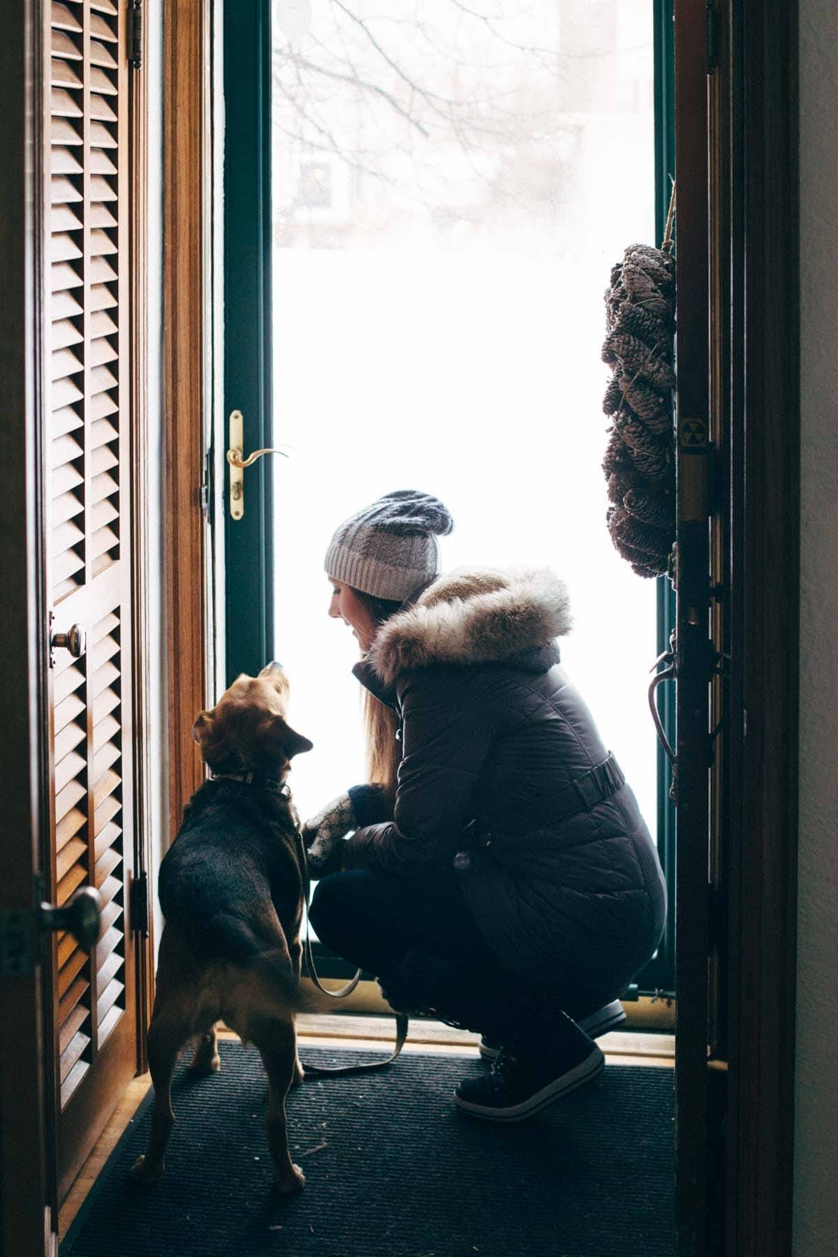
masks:
<svg viewBox="0 0 838 1257"><path fill-rule="evenodd" d="M305 1056L307 1045L334 1046L340 1040L342 1047L372 1047L378 1045L382 1055L393 1038L393 1021L389 1017L352 1016L342 1013L328 1016L323 1013L300 1013L297 1018L300 1040L300 1055ZM221 1038L237 1040L231 1031L221 1031ZM405 1045L406 1052L452 1053L474 1058L480 1036L469 1031L452 1029L441 1022L412 1021L411 1033ZM611 1065L653 1065L672 1068L675 1065L675 1037L672 1035L648 1035L642 1032L614 1031L603 1035L598 1041ZM126 1126L139 1107L143 1096L151 1086L147 1073L134 1079L126 1089L111 1121L102 1131L95 1148L79 1172L79 1177L69 1190L59 1210L59 1241L82 1207L82 1202L95 1182L108 1156L116 1148Z"/></svg>

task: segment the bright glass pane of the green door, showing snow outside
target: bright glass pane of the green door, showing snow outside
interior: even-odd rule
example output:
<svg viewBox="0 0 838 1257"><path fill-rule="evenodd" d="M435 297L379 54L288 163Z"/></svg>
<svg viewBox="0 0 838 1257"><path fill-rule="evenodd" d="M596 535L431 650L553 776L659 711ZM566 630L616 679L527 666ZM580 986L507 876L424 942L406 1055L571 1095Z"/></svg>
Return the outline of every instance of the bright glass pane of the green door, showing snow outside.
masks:
<svg viewBox="0 0 838 1257"><path fill-rule="evenodd" d="M563 660L655 827L655 582L606 529L603 293L653 243L652 10L318 4L274 21L276 657L315 749L300 813L363 779L332 532L393 489L455 518L443 568L541 566ZM290 28L289 28L290 29Z"/></svg>

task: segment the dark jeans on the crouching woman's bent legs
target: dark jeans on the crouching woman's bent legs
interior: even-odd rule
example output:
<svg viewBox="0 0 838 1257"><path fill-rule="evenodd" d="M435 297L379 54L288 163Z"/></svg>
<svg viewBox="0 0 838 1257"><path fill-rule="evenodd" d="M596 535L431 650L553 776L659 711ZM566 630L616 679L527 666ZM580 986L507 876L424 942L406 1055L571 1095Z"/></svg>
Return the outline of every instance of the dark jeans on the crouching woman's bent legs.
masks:
<svg viewBox="0 0 838 1257"><path fill-rule="evenodd" d="M454 871L431 877L373 869L334 872L318 882L309 919L322 943L377 978L420 949L509 980Z"/></svg>

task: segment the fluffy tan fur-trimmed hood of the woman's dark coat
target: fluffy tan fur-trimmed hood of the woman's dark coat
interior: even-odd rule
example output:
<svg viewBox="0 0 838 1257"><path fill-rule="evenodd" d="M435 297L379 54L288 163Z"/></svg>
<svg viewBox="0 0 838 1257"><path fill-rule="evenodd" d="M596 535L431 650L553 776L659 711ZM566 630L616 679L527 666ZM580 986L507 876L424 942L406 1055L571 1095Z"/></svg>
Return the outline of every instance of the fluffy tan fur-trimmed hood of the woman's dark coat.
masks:
<svg viewBox="0 0 838 1257"><path fill-rule="evenodd" d="M457 568L391 616L367 659L392 685L400 672L431 664L496 664L533 651L540 656L570 626L567 588L548 568Z"/></svg>

